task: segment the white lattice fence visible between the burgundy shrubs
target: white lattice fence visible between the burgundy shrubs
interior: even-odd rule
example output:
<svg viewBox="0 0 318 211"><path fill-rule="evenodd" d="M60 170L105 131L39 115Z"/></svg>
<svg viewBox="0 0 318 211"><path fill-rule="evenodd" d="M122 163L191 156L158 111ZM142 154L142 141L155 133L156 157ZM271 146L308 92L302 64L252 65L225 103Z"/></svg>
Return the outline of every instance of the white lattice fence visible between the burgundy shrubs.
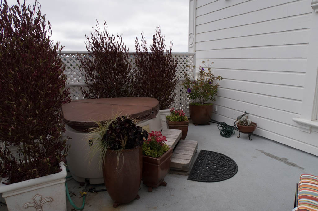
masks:
<svg viewBox="0 0 318 211"><path fill-rule="evenodd" d="M172 55L177 59L177 72L176 76L179 77L179 81L176 85L176 97L175 102L172 105L175 108L183 109L187 114L189 114L189 103L190 100L187 98L187 92L182 87L182 82L184 76L187 73L193 78L192 68L195 65L195 54L194 53L172 53ZM79 70L79 59L78 57L88 56L88 52L61 52L59 53L64 65L64 73L67 76L67 87L70 88L71 99L84 99L81 92L81 87L86 88L85 77ZM130 62L132 65L132 71L135 70L135 57L132 52L129 52Z"/></svg>

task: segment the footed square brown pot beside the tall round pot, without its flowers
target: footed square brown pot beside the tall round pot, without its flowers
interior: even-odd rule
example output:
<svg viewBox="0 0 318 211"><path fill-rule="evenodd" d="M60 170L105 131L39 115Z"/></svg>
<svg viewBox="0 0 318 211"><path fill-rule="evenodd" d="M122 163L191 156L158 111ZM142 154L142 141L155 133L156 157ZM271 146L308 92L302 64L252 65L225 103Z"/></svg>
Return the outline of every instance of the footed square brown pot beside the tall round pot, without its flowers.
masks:
<svg viewBox="0 0 318 211"><path fill-rule="evenodd" d="M142 156L142 183L148 186L149 192L159 185L167 185L163 179L169 172L171 157L172 148L158 158Z"/></svg>

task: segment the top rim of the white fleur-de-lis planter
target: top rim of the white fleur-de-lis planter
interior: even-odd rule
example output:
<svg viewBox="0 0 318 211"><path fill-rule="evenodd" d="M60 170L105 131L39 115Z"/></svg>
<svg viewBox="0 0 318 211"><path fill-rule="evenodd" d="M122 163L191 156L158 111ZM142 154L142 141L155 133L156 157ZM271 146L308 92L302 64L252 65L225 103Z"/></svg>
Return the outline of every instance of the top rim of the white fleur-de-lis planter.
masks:
<svg viewBox="0 0 318 211"><path fill-rule="evenodd" d="M62 171L47 175L47 176L41 176L38 178L30 179L30 180L24 180L21 182L12 183L9 185L5 185L2 182L5 182L7 178L2 178L0 183L0 193L6 193L6 192L12 192L14 191L14 194L16 195L19 193L24 193L29 191L31 187L34 187L34 189L39 189L39 185L43 184L43 186L51 186L52 182L58 184L58 183L64 183L65 177L67 175L66 167L63 162L59 163L60 168ZM35 187L38 186L38 187ZM42 186L41 186L42 187Z"/></svg>

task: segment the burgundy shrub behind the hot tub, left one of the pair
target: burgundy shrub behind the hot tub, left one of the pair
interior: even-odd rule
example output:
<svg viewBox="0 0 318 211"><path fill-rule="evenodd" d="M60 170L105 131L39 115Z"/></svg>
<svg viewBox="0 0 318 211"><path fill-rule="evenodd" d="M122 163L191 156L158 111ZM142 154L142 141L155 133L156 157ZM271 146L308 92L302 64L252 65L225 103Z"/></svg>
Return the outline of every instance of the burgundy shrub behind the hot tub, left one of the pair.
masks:
<svg viewBox="0 0 318 211"><path fill-rule="evenodd" d="M115 98L130 95L130 70L128 48L121 36L110 35L104 22L100 32L97 22L91 37L85 35L88 56L80 57L79 69L85 75L88 90L81 88L86 98Z"/></svg>

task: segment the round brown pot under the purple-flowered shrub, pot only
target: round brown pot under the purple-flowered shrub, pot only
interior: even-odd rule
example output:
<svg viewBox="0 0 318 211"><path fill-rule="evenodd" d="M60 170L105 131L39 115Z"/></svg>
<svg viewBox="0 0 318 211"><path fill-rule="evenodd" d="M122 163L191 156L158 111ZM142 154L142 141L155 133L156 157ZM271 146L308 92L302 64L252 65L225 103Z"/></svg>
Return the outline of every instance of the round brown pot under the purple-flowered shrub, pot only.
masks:
<svg viewBox="0 0 318 211"><path fill-rule="evenodd" d="M191 105L190 118L195 125L208 124L212 118L213 105Z"/></svg>

